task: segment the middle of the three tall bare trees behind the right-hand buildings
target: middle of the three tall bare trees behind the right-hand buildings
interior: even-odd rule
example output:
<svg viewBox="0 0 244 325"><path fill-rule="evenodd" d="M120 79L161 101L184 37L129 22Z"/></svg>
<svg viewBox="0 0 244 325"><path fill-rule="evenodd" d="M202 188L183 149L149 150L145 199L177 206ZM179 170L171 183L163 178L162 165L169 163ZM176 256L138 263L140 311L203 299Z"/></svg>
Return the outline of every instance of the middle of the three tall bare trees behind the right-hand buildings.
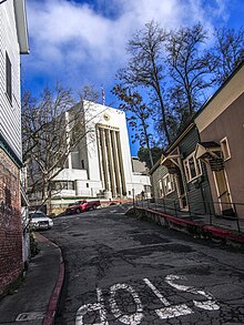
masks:
<svg viewBox="0 0 244 325"><path fill-rule="evenodd" d="M181 94L182 110L186 109L182 116L186 120L200 108L202 93L211 85L206 78L210 74L210 53L202 49L206 38L206 31L199 23L172 31L166 44L167 63L173 79L172 91Z"/></svg>

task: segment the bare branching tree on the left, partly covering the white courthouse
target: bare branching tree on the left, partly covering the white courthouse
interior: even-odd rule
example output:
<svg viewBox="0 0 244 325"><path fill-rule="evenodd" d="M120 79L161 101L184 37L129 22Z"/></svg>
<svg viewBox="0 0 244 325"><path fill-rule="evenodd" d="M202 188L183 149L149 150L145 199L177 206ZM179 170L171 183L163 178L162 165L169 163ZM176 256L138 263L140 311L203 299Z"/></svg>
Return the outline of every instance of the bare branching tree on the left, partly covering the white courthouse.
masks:
<svg viewBox="0 0 244 325"><path fill-rule="evenodd" d="M65 166L69 154L91 132L82 102L74 105L70 89L45 89L37 100L22 98L23 162L28 169L28 193L41 193L44 202L51 182Z"/></svg>

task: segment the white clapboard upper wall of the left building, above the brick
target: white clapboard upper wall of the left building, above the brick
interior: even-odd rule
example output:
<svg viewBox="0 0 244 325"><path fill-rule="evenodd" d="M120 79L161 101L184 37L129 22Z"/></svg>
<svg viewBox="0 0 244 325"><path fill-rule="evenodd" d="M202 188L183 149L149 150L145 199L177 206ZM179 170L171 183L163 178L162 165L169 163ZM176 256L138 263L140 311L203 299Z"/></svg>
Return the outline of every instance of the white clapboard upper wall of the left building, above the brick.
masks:
<svg viewBox="0 0 244 325"><path fill-rule="evenodd" d="M12 64L12 103L6 94L6 51ZM0 132L21 159L20 49L13 0L0 6Z"/></svg>

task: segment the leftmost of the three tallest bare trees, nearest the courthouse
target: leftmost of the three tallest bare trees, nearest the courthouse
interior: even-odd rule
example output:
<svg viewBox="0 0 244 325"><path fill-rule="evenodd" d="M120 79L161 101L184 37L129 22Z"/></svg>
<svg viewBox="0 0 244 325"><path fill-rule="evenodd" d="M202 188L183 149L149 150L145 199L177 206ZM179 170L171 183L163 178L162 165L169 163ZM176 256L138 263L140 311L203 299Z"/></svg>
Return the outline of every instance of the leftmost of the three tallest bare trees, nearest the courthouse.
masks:
<svg viewBox="0 0 244 325"><path fill-rule="evenodd" d="M154 108L162 116L162 130L166 142L170 143L169 126L166 123L165 104L163 99L163 47L167 33L151 21L143 30L138 31L129 41L126 51L130 55L128 67L118 73L120 84L124 88L141 87L151 97ZM155 115L155 114L154 114Z"/></svg>

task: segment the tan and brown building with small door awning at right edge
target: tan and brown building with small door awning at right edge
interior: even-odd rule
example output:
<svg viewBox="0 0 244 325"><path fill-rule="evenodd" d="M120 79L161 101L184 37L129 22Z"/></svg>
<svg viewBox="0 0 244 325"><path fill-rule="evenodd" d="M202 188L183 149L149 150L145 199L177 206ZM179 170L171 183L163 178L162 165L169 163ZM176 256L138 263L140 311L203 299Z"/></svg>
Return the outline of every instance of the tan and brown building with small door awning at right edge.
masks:
<svg viewBox="0 0 244 325"><path fill-rule="evenodd" d="M195 118L216 214L244 217L244 61Z"/></svg>

